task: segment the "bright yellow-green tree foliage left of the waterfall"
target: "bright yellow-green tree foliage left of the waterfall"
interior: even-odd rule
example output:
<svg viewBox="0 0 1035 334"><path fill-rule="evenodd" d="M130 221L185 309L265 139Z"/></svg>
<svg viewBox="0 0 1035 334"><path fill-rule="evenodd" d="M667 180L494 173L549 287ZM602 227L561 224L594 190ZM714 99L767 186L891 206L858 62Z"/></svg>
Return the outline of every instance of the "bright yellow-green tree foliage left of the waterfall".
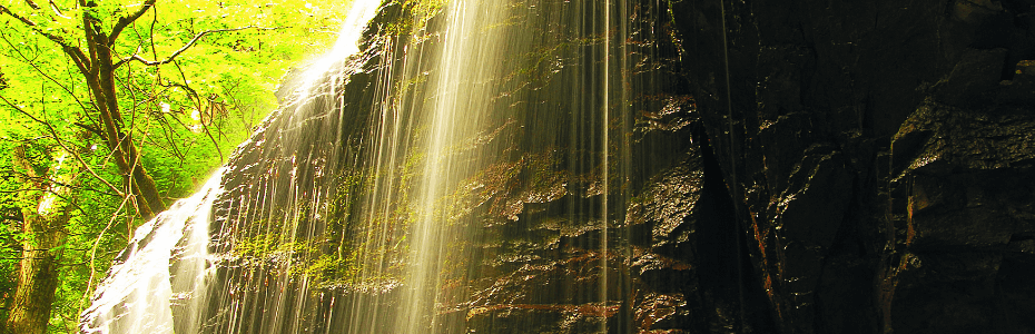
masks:
<svg viewBox="0 0 1035 334"><path fill-rule="evenodd" d="M19 170L10 155L0 156L0 295L8 301L13 294L20 242L26 237L16 217L38 206L31 200L38 196L31 195L65 180L75 189L68 198L75 209L66 226L60 286L48 333L76 333L78 314L88 305L91 289L144 222L118 194L125 191L122 175L99 135L102 125L89 87L55 39L83 46L83 16L110 31L119 18L140 9L141 1L97 0L89 2L96 6L79 7L78 1L55 0L38 2L38 8L30 3L0 2L36 23L29 27L0 13L4 27L0 29L0 151L24 147L37 174L46 179L27 180L28 170ZM157 66L127 60L115 78L124 128L132 132L144 166L166 200L188 196L228 158L275 108L273 91L290 67L315 60L333 47L348 4L159 0L126 27L112 48L117 59L138 56L160 61L177 55ZM205 31L213 32L191 45ZM248 252L278 249L253 242ZM6 318L7 308L0 310Z"/></svg>

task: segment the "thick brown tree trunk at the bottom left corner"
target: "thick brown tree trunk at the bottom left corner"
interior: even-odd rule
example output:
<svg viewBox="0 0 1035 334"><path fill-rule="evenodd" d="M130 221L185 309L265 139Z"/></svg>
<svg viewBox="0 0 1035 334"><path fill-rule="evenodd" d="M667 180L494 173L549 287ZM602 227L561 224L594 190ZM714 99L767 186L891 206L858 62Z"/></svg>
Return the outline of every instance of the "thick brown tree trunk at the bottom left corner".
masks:
<svg viewBox="0 0 1035 334"><path fill-rule="evenodd" d="M51 175L37 175L32 164L26 158L23 147L16 149L14 160L26 170L28 177L23 181L46 191L31 195L27 202L34 205L22 208L22 230L26 239L21 243L18 286L11 301L6 330L17 334L42 334L50 321L51 304L58 288L57 266L61 255L59 246L65 243L65 227L70 214L69 206L63 200L69 198L70 191L63 187L41 183L41 179ZM65 199L48 198L58 195Z"/></svg>

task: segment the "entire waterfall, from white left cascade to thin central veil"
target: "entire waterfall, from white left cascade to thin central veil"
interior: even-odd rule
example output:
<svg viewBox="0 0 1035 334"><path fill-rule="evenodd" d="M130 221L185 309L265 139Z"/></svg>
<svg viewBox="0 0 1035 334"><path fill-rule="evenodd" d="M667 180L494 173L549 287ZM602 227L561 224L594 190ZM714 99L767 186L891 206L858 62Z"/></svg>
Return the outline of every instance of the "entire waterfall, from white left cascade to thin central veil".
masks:
<svg viewBox="0 0 1035 334"><path fill-rule="evenodd" d="M638 10L357 0L234 159L136 232L83 331L629 331L632 110L657 104L630 92Z"/></svg>

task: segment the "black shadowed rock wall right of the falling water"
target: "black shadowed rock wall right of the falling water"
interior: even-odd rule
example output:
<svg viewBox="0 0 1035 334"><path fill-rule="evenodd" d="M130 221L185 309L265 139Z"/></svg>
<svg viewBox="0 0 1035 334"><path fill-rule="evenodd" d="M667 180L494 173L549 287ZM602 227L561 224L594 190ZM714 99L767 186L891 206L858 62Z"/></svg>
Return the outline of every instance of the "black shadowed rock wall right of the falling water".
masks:
<svg viewBox="0 0 1035 334"><path fill-rule="evenodd" d="M1035 331L1031 2L670 4L780 332Z"/></svg>

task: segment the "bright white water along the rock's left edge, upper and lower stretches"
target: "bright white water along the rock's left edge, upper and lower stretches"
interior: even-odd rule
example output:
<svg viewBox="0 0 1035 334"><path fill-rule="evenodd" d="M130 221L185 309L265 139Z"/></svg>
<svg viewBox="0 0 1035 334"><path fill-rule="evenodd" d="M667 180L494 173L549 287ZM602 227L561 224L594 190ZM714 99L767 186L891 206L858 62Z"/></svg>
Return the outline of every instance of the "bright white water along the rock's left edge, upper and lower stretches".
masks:
<svg viewBox="0 0 1035 334"><path fill-rule="evenodd" d="M363 27L378 1L355 0L334 48L310 65L293 92L298 108L327 89L319 82L332 67L358 51ZM331 80L332 90L334 80ZM324 87L319 87L324 86ZM299 116L295 112L289 117ZM270 117L274 117L270 115ZM269 119L265 122L269 122ZM297 138L296 138L297 139ZM246 141L241 146L253 143ZM207 303L213 258L209 223L213 204L223 193L220 168L191 197L138 227L117 257L80 320L83 333L199 333Z"/></svg>

